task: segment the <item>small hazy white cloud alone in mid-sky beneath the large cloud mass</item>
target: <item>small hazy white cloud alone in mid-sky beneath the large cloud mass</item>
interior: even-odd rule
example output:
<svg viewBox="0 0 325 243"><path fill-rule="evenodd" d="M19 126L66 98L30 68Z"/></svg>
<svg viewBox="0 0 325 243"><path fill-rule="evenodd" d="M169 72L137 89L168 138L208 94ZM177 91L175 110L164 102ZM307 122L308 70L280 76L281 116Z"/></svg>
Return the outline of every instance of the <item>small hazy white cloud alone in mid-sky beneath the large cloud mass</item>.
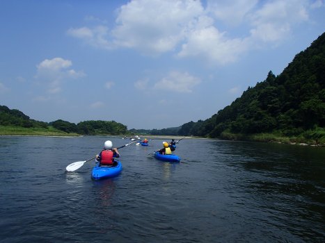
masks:
<svg viewBox="0 0 325 243"><path fill-rule="evenodd" d="M167 77L154 85L157 90L170 90L174 92L192 92L193 87L200 83L200 78L189 75L187 72L171 72Z"/></svg>

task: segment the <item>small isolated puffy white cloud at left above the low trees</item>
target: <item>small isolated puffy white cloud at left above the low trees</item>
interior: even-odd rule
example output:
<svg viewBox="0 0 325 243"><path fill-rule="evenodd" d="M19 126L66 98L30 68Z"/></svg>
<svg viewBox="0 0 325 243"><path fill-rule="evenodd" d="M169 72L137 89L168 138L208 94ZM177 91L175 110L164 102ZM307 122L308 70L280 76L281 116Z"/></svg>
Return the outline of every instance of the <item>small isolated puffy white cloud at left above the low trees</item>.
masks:
<svg viewBox="0 0 325 243"><path fill-rule="evenodd" d="M70 60L63 58L45 59L36 65L37 73L35 78L40 83L47 85L47 92L56 94L61 92L61 85L70 78L80 78L84 76L84 72L76 72L69 69L72 66Z"/></svg>

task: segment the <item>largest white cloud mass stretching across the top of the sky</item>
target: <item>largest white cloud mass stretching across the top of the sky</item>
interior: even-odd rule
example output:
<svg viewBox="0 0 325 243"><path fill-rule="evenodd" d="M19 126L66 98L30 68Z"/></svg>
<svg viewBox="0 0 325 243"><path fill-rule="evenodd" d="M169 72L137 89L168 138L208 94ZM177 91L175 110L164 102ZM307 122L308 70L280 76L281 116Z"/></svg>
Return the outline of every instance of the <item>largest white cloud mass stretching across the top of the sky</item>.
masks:
<svg viewBox="0 0 325 243"><path fill-rule="evenodd" d="M308 10L308 0L133 0L118 8L116 24L70 28L68 34L102 49L135 49L149 56L171 52L178 58L204 57L216 65L235 62L257 44L278 43ZM224 25L241 28L223 31Z"/></svg>

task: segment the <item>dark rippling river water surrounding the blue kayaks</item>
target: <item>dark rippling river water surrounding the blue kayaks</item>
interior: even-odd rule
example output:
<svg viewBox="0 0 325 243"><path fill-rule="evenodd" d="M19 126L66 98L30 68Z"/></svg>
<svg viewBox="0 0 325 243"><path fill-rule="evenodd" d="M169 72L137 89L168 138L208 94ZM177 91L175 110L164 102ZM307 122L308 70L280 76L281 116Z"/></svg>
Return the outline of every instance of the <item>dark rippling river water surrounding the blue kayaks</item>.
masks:
<svg viewBox="0 0 325 243"><path fill-rule="evenodd" d="M324 242L325 148L184 139L120 149L93 181L72 162L121 137L0 137L0 242ZM169 142L169 140L167 140Z"/></svg>

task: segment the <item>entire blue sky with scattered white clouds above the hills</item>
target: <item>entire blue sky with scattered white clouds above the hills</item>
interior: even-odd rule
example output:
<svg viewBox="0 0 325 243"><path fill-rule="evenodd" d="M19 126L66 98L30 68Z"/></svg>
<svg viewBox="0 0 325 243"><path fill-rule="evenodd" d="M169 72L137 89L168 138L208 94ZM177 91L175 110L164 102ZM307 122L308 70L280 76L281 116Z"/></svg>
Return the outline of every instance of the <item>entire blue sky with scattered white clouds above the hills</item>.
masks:
<svg viewBox="0 0 325 243"><path fill-rule="evenodd" d="M0 0L0 105L39 121L169 128L278 75L325 31L319 0Z"/></svg>

